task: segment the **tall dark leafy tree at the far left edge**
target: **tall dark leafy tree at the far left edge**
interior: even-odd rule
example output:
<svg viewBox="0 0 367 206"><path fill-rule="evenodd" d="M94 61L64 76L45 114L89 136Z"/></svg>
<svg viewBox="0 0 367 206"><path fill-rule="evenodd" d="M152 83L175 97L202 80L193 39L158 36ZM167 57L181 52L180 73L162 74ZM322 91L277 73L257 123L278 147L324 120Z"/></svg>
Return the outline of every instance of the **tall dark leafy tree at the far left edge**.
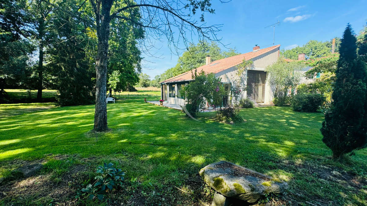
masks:
<svg viewBox="0 0 367 206"><path fill-rule="evenodd" d="M0 0L0 97L5 87L24 85L32 75L29 62L34 46L27 39L31 35L29 16L17 12L25 5L25 0Z"/></svg>

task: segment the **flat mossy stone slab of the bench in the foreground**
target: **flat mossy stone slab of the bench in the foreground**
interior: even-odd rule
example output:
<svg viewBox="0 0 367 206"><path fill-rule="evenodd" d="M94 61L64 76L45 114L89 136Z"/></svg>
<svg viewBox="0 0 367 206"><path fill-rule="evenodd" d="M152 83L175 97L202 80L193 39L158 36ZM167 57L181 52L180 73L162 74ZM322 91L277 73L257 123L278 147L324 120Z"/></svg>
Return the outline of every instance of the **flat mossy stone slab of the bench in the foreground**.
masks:
<svg viewBox="0 0 367 206"><path fill-rule="evenodd" d="M257 202L265 194L283 193L288 188L283 181L227 161L207 165L199 174L215 191L248 203Z"/></svg>

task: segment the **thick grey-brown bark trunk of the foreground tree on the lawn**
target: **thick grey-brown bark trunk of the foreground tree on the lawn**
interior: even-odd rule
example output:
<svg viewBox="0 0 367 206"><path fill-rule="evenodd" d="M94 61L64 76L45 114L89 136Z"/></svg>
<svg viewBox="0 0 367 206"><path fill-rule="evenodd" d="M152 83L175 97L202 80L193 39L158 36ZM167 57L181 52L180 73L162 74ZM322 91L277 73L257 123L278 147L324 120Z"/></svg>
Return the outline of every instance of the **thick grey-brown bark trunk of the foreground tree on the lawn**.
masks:
<svg viewBox="0 0 367 206"><path fill-rule="evenodd" d="M102 1L101 24L97 27L98 49L95 62L96 83L95 83L95 113L94 131L102 132L108 130L107 127L107 60L108 60L108 39L110 35L110 10L112 1ZM98 24L98 23L97 23Z"/></svg>

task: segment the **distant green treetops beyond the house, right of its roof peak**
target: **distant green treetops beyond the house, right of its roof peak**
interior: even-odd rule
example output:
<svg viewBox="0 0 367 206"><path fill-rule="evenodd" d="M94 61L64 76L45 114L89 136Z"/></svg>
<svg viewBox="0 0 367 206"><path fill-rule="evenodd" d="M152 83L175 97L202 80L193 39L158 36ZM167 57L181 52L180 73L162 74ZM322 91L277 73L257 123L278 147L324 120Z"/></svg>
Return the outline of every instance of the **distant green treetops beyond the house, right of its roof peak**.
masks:
<svg viewBox="0 0 367 206"><path fill-rule="evenodd" d="M323 56L331 55L331 47L332 47L333 39L330 41L317 41L310 40L308 43L303 45L302 47L295 47L288 50L281 50L281 55L286 59L298 59L298 54L305 53L306 58L308 59L316 59ZM339 52L340 38L335 37L335 52Z"/></svg>

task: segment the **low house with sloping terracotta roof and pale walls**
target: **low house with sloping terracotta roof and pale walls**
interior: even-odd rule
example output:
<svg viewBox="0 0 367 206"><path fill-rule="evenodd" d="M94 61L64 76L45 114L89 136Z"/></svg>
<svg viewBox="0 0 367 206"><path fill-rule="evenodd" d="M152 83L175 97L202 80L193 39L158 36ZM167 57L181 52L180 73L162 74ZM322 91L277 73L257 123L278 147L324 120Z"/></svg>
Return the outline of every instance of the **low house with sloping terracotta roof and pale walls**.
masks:
<svg viewBox="0 0 367 206"><path fill-rule="evenodd" d="M240 84L241 96L247 96L258 103L269 103L273 99L270 91L269 83L266 81L267 74L265 67L276 62L279 57L280 45L260 49L259 46L252 48L251 52L231 56L224 59L210 61L210 56L206 57L206 65L197 68L197 72L204 71L206 73L215 73L216 77L222 79L222 85L227 91L227 96L224 96L222 106L227 106L231 103L230 96L231 87L235 84ZM237 65L243 60L252 60L252 65L248 70L244 71L240 76L237 74ZM160 82L161 84L161 99L168 103L179 104L183 106L185 101L182 99L179 90L189 84L192 79L192 71L179 74Z"/></svg>

